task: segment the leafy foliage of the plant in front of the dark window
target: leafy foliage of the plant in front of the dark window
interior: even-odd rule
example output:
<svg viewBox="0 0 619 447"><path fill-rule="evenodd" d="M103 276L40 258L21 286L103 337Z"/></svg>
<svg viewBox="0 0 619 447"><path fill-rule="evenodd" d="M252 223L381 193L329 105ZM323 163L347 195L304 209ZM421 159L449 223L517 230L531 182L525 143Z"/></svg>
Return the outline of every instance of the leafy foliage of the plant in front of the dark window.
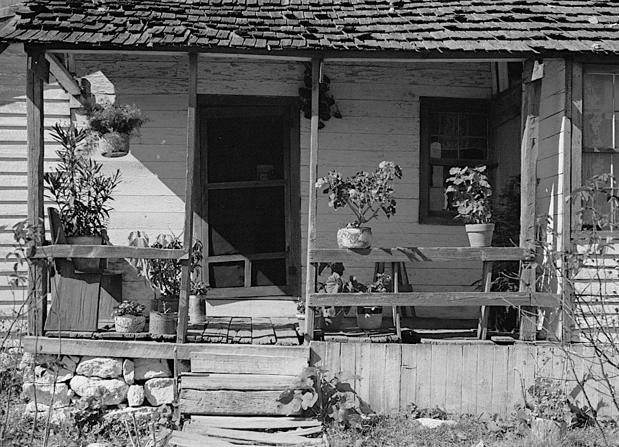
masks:
<svg viewBox="0 0 619 447"><path fill-rule="evenodd" d="M451 168L447 179L447 194L453 194L452 205L458 211L455 218L469 224L488 224L492 219L490 196L492 187L486 176L486 166Z"/></svg>

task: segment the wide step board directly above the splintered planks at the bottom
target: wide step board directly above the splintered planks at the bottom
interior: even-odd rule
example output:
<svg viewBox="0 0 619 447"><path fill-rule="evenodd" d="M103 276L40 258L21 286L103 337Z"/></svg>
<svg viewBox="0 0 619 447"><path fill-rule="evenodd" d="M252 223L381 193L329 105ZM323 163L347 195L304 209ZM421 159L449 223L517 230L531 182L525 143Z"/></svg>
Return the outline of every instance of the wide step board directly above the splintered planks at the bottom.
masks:
<svg viewBox="0 0 619 447"><path fill-rule="evenodd" d="M182 413L192 415L277 415L281 391L182 390Z"/></svg>

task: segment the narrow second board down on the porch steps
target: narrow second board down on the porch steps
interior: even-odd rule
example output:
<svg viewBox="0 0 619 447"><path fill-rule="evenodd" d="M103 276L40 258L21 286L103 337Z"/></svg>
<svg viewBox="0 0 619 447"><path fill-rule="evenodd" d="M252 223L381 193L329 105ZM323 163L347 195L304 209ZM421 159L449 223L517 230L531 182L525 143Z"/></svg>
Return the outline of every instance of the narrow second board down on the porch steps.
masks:
<svg viewBox="0 0 619 447"><path fill-rule="evenodd" d="M284 390L296 382L296 376L272 374L188 374L181 378L182 389L236 389L239 391Z"/></svg>

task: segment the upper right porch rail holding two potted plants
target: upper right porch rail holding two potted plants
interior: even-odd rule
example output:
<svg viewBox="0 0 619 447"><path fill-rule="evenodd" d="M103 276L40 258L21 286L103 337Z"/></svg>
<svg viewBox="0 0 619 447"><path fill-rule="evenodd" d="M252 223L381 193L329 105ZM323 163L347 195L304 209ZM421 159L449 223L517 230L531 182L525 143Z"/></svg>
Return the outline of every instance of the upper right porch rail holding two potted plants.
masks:
<svg viewBox="0 0 619 447"><path fill-rule="evenodd" d="M530 261L533 255L519 247L397 247L395 249L314 249L310 262L448 262Z"/></svg>

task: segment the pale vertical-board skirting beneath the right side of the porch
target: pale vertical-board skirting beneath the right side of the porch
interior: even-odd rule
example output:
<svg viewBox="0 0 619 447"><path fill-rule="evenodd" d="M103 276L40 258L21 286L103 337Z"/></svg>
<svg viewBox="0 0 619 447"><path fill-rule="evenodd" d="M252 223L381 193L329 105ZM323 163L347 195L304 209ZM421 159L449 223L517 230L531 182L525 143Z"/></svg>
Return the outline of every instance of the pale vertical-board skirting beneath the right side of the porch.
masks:
<svg viewBox="0 0 619 447"><path fill-rule="evenodd" d="M514 410L514 404L523 402L522 387L532 385L535 377L561 380L569 393L576 387L576 378L583 380L591 373L596 380L585 382L591 403L605 404L600 415L619 417L608 398L609 390L597 380L600 366L592 347L313 341L310 348L310 365L325 367L332 374L347 371L361 376L353 386L375 411L406 410L407 405L416 404L420 408L439 406L448 413L499 413L504 417ZM565 349L574 360L574 369ZM619 391L619 376L612 376L611 386ZM580 406L588 406L583 393L575 399Z"/></svg>

